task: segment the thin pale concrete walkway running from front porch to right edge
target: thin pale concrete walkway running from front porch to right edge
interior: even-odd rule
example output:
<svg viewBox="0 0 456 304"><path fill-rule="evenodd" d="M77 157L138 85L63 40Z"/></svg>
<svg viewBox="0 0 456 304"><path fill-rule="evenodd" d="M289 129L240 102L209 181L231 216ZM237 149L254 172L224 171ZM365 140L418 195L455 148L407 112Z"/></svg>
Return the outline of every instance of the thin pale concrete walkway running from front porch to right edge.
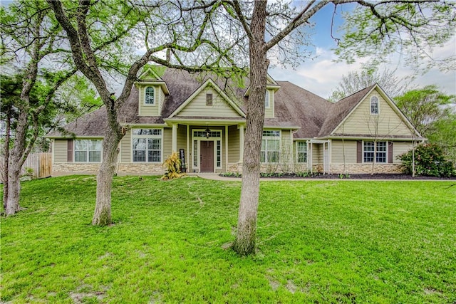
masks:
<svg viewBox="0 0 456 304"><path fill-rule="evenodd" d="M214 181L227 181L227 182L241 182L241 177L222 177L215 173L190 173L188 174L193 177L201 177L202 179L212 179ZM410 181L410 182L456 182L456 179L318 179L318 178L306 178L296 177L293 179L287 178L274 178L274 177L262 177L261 182L293 182L293 181L326 181L326 182L337 182L337 181L364 181L364 182L394 182L394 181Z"/></svg>

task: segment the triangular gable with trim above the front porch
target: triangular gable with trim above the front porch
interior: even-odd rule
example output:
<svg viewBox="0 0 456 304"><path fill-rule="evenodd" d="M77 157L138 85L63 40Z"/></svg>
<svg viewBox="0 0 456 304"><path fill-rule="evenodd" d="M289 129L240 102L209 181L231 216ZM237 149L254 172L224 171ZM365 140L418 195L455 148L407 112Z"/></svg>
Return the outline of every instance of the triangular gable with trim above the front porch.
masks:
<svg viewBox="0 0 456 304"><path fill-rule="evenodd" d="M213 90L218 96L214 96L213 105L205 105L205 99L202 101L202 95L205 90ZM218 97L218 98L217 98ZM204 95L205 98L205 95ZM195 104L195 107L192 105ZM174 112L169 115L169 118L175 116L192 116L191 112L204 111L204 116L215 116L215 117L245 117L245 113L234 103L231 98L227 96L214 81L209 78L207 79L192 95L190 95L184 103L182 103Z"/></svg>

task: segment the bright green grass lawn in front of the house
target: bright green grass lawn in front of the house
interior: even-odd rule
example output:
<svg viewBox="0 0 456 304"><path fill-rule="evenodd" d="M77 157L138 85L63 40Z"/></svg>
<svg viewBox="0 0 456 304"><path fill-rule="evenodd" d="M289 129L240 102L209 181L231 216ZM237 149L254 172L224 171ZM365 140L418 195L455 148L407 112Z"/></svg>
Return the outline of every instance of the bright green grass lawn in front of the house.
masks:
<svg viewBox="0 0 456 304"><path fill-rule="evenodd" d="M11 303L455 303L454 182L261 182L256 256L234 239L239 182L95 177L23 184L1 218Z"/></svg>

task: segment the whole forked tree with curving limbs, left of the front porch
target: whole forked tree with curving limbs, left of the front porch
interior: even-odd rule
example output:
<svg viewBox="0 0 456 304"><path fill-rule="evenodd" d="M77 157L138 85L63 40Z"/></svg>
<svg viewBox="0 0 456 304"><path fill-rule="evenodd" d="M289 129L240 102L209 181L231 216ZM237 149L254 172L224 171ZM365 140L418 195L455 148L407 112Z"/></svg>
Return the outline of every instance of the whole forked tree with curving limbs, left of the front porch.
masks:
<svg viewBox="0 0 456 304"><path fill-rule="evenodd" d="M58 23L66 31L71 45L73 61L81 72L95 85L103 100L107 115L107 125L103 137L103 160L97 176L97 194L93 225L105 226L111 223L111 185L118 159L118 145L125 135L125 127L118 121L118 110L130 95L137 74L149 61L155 61L172 68L183 68L192 72L212 70L221 72L234 61L233 48L238 44L236 31L222 31L217 24L216 12L222 2L204 1L168 2L168 1L110 1L108 9L113 14L112 22L121 25L125 21L135 27L132 33L143 38L145 53L127 66L126 79L122 93L115 97L106 85L103 66L98 64L97 54L92 44L98 37L88 32L90 11L105 9L105 3L88 0L79 1L76 7L62 2L48 0L56 15ZM97 23L103 31L109 31L104 23ZM219 36L224 35L224 38ZM133 43L128 38L124 43ZM157 53L170 50L176 63L166 61ZM191 63L188 63L191 59Z"/></svg>

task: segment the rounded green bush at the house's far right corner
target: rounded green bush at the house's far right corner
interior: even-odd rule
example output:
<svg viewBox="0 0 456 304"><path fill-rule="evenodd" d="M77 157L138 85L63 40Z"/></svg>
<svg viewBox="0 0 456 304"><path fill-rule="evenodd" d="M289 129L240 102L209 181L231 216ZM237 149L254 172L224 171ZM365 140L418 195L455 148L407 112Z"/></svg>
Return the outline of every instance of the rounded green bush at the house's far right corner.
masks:
<svg viewBox="0 0 456 304"><path fill-rule="evenodd" d="M412 150L398 156L403 162L403 172L412 174ZM445 159L437 145L425 144L415 148L415 175L427 177L455 177L455 165Z"/></svg>

